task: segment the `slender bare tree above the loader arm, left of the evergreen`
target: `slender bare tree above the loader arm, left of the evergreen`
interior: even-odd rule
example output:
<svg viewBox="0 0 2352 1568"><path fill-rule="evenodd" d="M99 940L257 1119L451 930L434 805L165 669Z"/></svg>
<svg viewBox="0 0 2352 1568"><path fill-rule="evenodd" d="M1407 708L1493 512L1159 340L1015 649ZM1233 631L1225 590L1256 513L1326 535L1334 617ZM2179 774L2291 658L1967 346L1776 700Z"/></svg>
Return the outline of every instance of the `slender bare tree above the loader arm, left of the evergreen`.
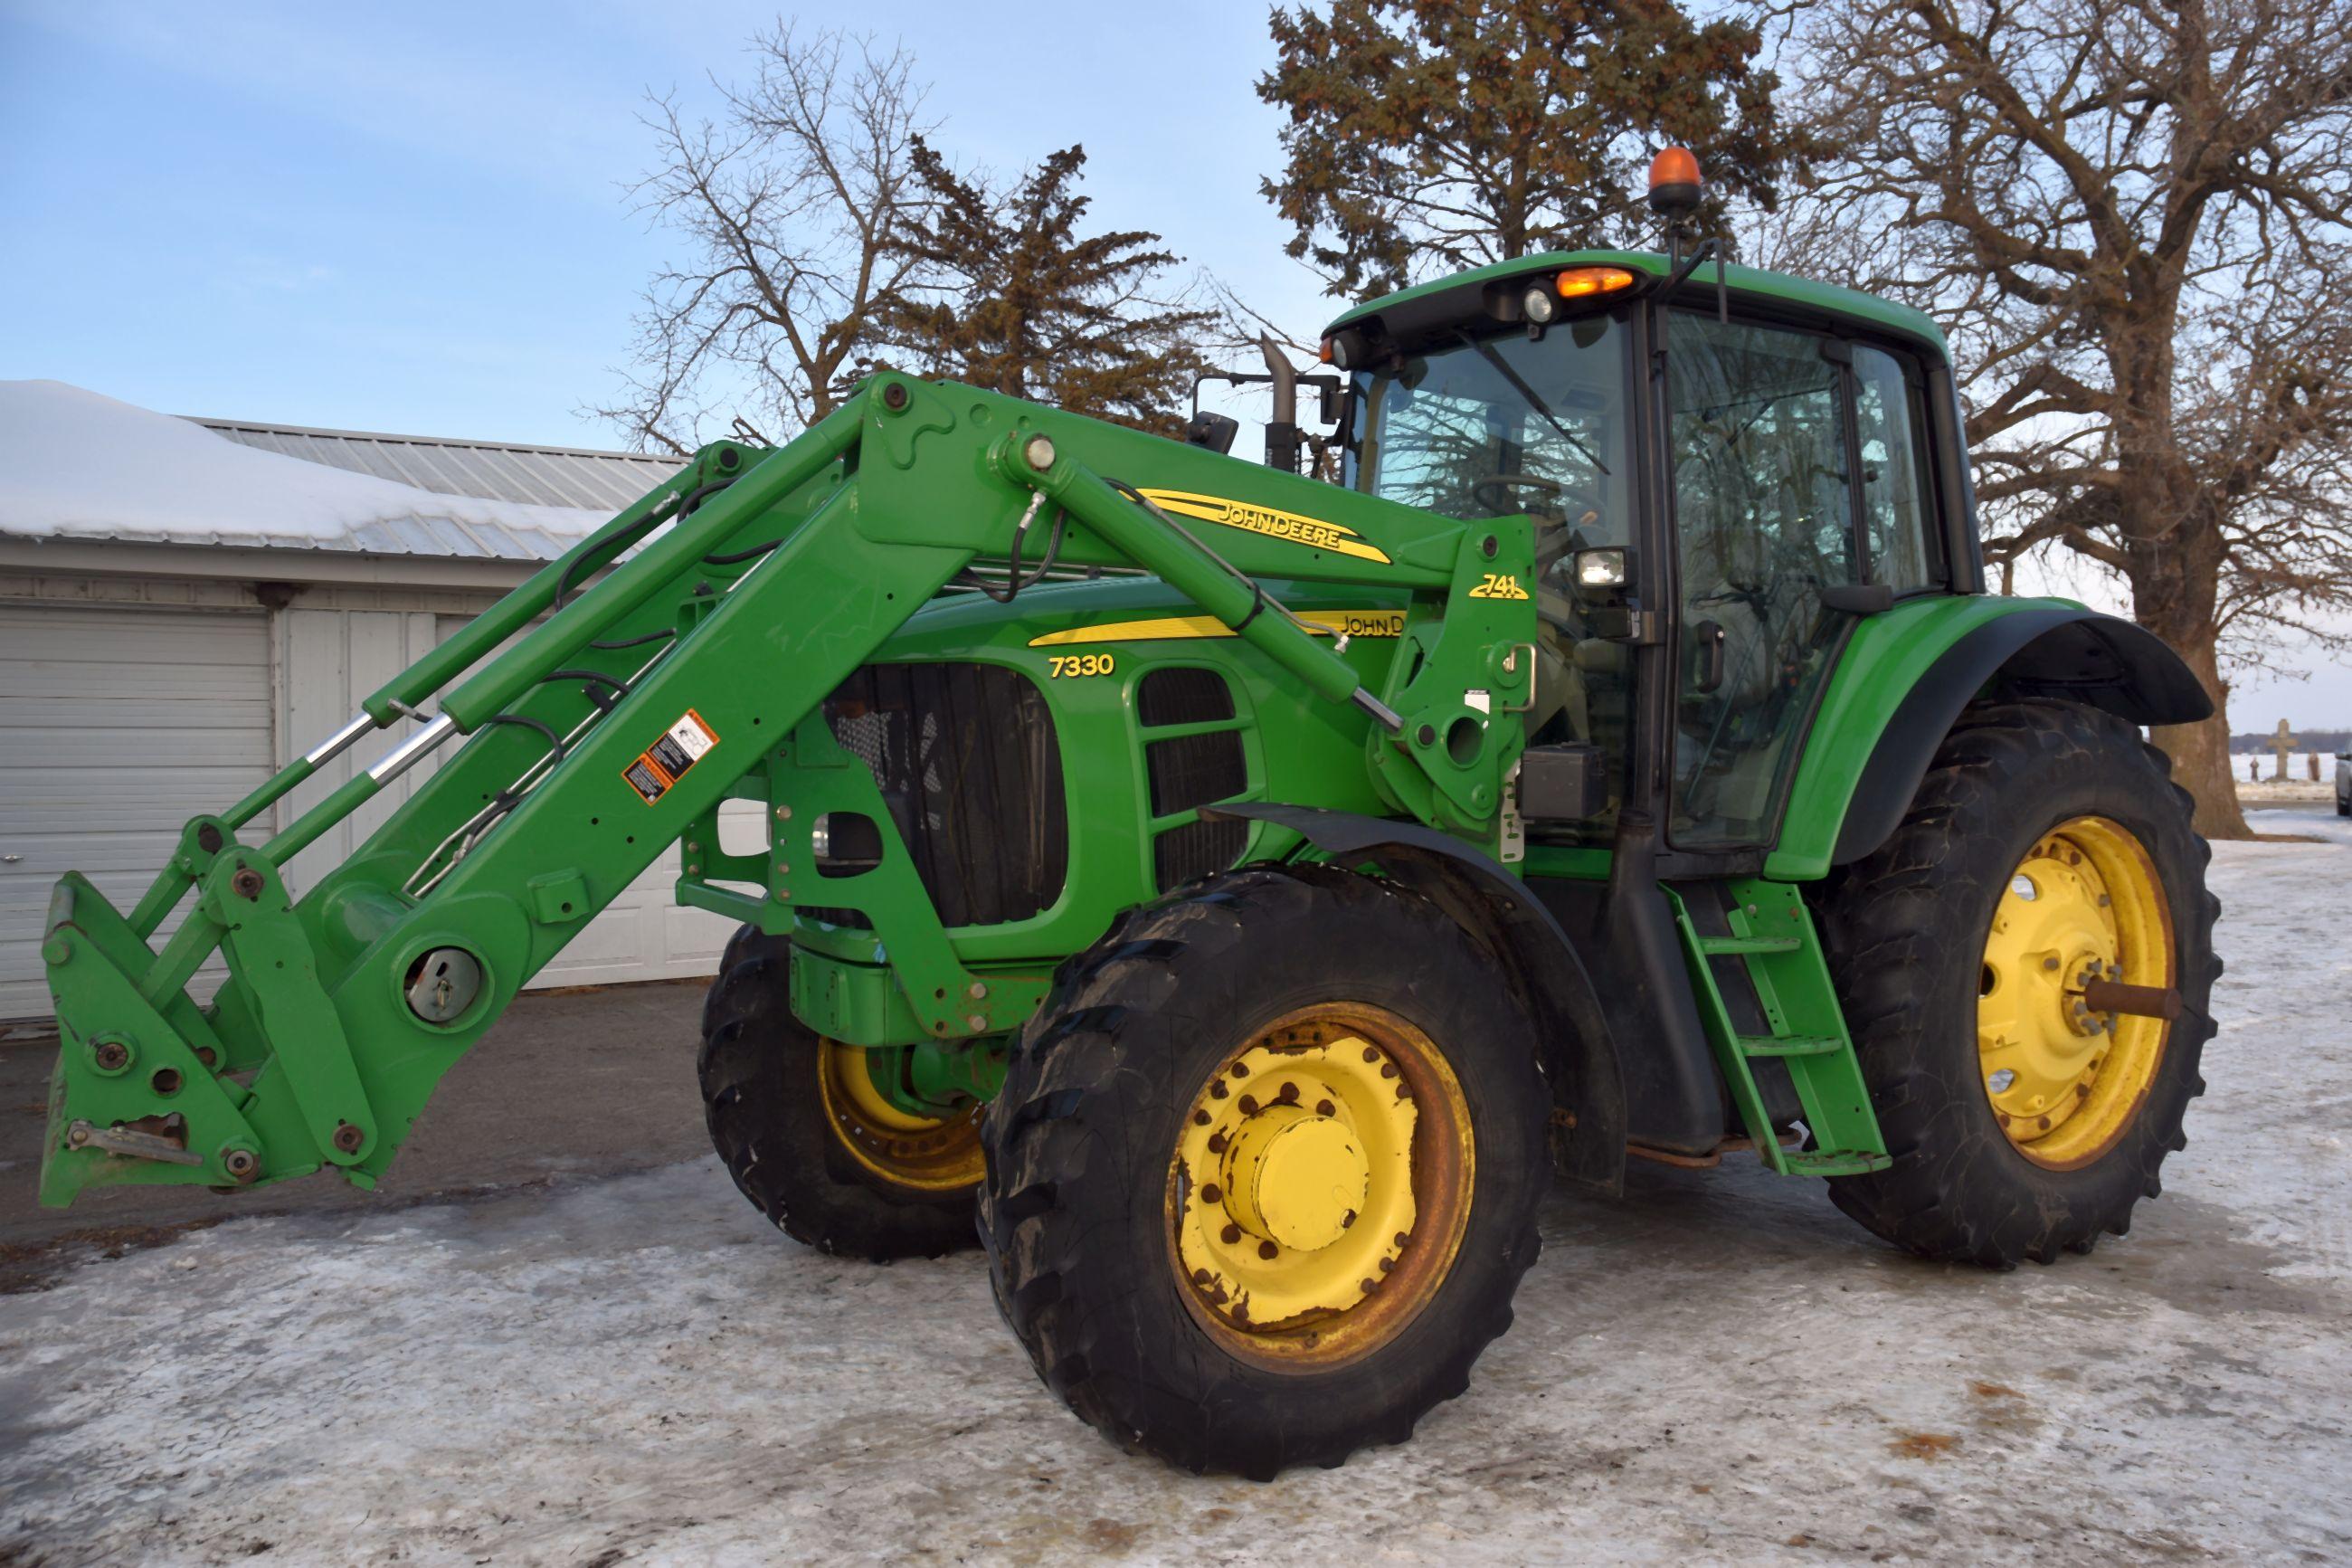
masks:
<svg viewBox="0 0 2352 1568"><path fill-rule="evenodd" d="M691 259L647 287L637 369L595 409L640 444L689 451L715 402L774 435L823 418L924 266L898 247L920 200L915 139L931 129L913 56L788 24L753 56L748 87L720 87L717 122L689 120L675 94L644 118L661 162L637 209Z"/></svg>

